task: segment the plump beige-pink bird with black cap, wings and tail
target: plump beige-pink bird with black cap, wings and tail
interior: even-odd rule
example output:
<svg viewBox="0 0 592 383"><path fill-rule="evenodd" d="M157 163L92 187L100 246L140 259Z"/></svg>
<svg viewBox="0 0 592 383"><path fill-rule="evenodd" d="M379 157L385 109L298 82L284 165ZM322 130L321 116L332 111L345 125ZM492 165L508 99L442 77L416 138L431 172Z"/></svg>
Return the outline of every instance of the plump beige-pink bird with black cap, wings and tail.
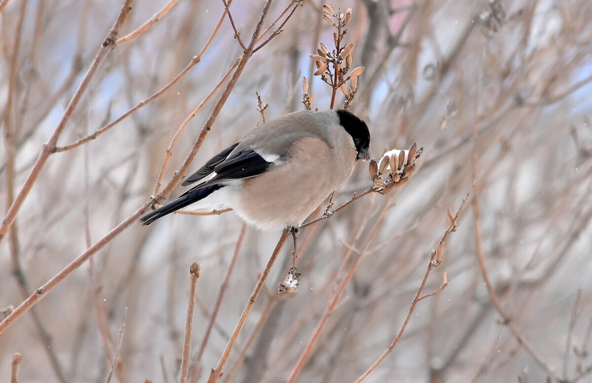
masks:
<svg viewBox="0 0 592 383"><path fill-rule="evenodd" d="M288 113L215 155L181 185L200 183L140 222L150 225L189 205L223 205L263 231L297 229L348 180L356 161L369 160L369 145L368 125L349 111Z"/></svg>

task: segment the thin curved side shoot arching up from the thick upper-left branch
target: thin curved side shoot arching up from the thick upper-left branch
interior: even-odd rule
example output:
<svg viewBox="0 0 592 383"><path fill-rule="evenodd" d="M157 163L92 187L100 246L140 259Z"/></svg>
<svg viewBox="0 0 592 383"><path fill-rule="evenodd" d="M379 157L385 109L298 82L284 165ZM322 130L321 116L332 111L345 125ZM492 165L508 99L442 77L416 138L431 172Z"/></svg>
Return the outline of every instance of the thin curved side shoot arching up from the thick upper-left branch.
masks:
<svg viewBox="0 0 592 383"><path fill-rule="evenodd" d="M192 69L192 67L194 67L196 64L200 63L201 57L204 56L205 51L207 50L208 47L210 47L210 44L212 43L212 40L214 40L214 36L218 33L218 30L220 30L220 26L222 25L222 22L224 21L224 17L225 16L226 16L226 11L224 11L224 13L222 14L222 16L220 17L220 20L218 21L218 24L214 28L214 31L211 33L210 38L208 38L208 41L205 43L204 47L201 49L200 54L198 54L197 56L194 56L193 59L191 59L191 61L189 61L189 64L187 64L187 66L179 74L177 74L175 76L175 78L172 79L167 85L165 85L164 87L162 87L162 89L160 89L158 92L154 93L149 98L140 101L136 106L134 106L129 111L127 111L126 113L124 113L123 115L121 115L119 118L115 119L110 124L105 125L102 128L100 128L100 129L96 129L96 131L92 132L92 134L90 134L90 135L88 135L88 136L86 136L84 138L81 138L78 141L73 142L72 144L69 144L69 145L66 145L66 146L63 146L63 147L56 147L54 151L56 151L56 152L62 152L62 151L70 150L70 149L76 148L76 147L78 147L78 146L80 146L82 144L86 144L86 142L92 141L93 139L96 139L97 137L99 137L99 135L101 135L104 132L108 131L113 126L119 124L121 121L123 121L124 119L126 119L127 117L129 117L130 115L132 115L134 112L138 111L139 109L141 109L144 106L148 105L150 102L154 101L159 96L163 95L163 93L165 93L173 85L175 85L177 82L179 82L179 80L181 80L183 77L185 77L185 74L187 74L189 72L189 70ZM207 99L209 99L209 96L208 96Z"/></svg>

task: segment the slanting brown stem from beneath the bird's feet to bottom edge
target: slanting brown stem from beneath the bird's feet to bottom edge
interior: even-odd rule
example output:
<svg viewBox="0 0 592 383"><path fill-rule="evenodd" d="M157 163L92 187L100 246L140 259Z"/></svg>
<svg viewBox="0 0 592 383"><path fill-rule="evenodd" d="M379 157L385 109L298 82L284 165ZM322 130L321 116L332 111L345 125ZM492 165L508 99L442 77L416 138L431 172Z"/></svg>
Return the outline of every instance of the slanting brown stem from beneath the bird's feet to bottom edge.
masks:
<svg viewBox="0 0 592 383"><path fill-rule="evenodd" d="M259 293L261 292L263 285L265 285L265 281L269 276L269 272L271 271L271 268L274 266L275 260L278 258L279 252L281 251L282 247L284 247L284 244L286 243L286 240L288 239L289 235L290 233L288 231L284 231L282 232L282 235L279 237L278 244L275 245L274 252L271 254L271 257L269 257L269 261L265 265L265 269L263 269L263 272L261 273L261 276L259 277L259 280L255 285L255 289L253 290L253 293L250 295L249 300L247 301L247 304L244 307L243 313L240 315L239 322L237 322L236 327L234 327L234 331L230 336L230 339L226 345L226 348L224 349L224 352L222 353L222 356L220 357L220 361L218 361L216 367L211 370L210 378L208 378L208 383L217 382L220 379L220 376L222 376L222 369L228 361L230 352L234 348L234 343L236 343L236 339L237 337L239 337L239 334L243 329L244 322L246 322L247 317L249 316L249 313L253 308L253 304L255 304L255 300L259 296Z"/></svg>

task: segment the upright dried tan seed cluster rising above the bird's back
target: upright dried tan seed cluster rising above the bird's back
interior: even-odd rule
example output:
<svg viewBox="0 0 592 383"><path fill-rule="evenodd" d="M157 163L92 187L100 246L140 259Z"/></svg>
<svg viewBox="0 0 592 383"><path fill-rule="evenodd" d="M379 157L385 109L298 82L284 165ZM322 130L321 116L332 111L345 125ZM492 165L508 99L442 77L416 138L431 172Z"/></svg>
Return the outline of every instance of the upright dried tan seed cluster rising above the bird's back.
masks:
<svg viewBox="0 0 592 383"><path fill-rule="evenodd" d="M356 67L350 72L352 67L352 51L353 44L343 44L343 38L348 33L345 26L352 20L352 8L348 8L345 13L333 11L329 5L323 5L323 20L326 20L337 32L333 33L334 49L329 49L325 44L320 43L317 48L317 54L310 54L309 57L314 60L317 66L317 71L314 76L320 76L327 85L331 86L333 90L340 89L345 95L345 102L343 109L349 109L352 105L353 98L356 94L356 86L358 85L358 76L364 71L364 67ZM349 74L348 74L349 73ZM304 79L305 80L305 79ZM303 103L307 106L307 96L310 98L310 93L304 90L303 80ZM348 86L348 81L350 85ZM308 90L308 89L307 89ZM308 103L307 109L310 109Z"/></svg>

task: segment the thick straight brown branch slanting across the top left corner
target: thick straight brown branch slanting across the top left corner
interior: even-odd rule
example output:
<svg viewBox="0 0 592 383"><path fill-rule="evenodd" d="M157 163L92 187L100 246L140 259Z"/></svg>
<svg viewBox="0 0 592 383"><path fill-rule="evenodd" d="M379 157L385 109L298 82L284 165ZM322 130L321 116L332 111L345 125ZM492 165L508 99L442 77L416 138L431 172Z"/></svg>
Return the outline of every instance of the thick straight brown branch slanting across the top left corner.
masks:
<svg viewBox="0 0 592 383"><path fill-rule="evenodd" d="M96 73L96 70L99 66L101 66L105 57L107 57L108 54L113 50L114 40L117 37L118 32L121 30L121 27L123 27L123 24L126 21L128 14L130 14L132 3L133 0L124 1L123 7L121 7L117 19L113 24L113 27L107 34L107 37L103 41L101 48L99 48L98 52L96 53L95 59L92 61L92 64L86 72L85 76L83 77L82 82L78 86L78 89L76 89L76 92L72 96L72 99L66 106L66 110L64 111L62 118L58 122L56 129L53 131L53 134L51 135L49 140L43 145L43 148L41 149L37 161L33 165L33 168L28 174L25 183L22 185L21 190L18 192L17 197L12 203L10 209L8 209L7 215L2 221L2 226L0 226L0 243L2 243L2 239L4 238L8 230L11 228L12 223L14 223L18 211L21 209L22 203L27 198L31 189L33 189L33 184L37 180L41 172L41 168L43 168L43 166L47 162L47 158L49 158L49 156L53 153L53 150L57 144L57 140L60 138L60 135L62 135L62 132L66 128L66 123L72 117L72 113L75 111L76 106L78 106L78 103L80 102L82 95L88 87L92 77Z"/></svg>

